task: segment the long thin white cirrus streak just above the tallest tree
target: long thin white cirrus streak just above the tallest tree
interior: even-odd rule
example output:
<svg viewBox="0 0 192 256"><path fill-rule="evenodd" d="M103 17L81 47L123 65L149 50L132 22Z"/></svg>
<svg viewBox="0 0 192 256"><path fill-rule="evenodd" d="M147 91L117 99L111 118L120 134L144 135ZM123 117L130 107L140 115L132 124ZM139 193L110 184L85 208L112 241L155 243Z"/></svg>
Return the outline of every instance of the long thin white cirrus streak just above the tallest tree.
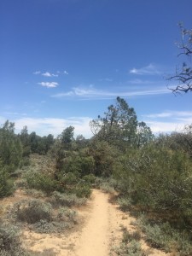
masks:
<svg viewBox="0 0 192 256"><path fill-rule="evenodd" d="M103 99L103 98L114 98L116 96L148 96L148 95L160 95L160 94L166 94L170 93L167 88L160 89L156 88L156 90L134 90L134 91L125 91L125 90L118 90L118 91L112 91L112 90L98 90L91 87L88 88L82 88L82 87L73 87L72 90L69 90L67 92L61 92L55 95L52 95L52 97L55 98L65 98L65 97L76 97L79 99Z"/></svg>

